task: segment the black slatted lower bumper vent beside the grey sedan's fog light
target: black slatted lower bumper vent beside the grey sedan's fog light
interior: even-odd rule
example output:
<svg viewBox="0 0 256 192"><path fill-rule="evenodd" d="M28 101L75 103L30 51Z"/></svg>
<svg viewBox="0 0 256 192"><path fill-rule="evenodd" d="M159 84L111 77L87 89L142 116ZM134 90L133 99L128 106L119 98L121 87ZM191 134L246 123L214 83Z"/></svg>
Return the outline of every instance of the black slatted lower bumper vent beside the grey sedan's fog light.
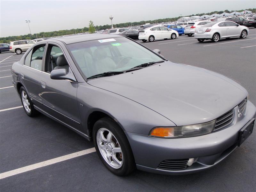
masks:
<svg viewBox="0 0 256 192"><path fill-rule="evenodd" d="M163 170L182 170L187 168L188 159L174 159L162 161L157 169Z"/></svg>

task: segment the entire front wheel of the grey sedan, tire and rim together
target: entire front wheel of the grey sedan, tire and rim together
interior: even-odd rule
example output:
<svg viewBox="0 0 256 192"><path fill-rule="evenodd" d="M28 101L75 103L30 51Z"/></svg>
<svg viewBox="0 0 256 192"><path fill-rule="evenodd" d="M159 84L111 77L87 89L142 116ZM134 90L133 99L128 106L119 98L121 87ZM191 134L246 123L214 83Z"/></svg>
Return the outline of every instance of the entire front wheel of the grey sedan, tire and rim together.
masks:
<svg viewBox="0 0 256 192"><path fill-rule="evenodd" d="M111 138L108 138L109 134L112 134ZM93 143L100 160L110 172L124 176L135 170L135 161L128 139L112 119L103 117L94 124ZM114 148L121 152L114 152Z"/></svg>

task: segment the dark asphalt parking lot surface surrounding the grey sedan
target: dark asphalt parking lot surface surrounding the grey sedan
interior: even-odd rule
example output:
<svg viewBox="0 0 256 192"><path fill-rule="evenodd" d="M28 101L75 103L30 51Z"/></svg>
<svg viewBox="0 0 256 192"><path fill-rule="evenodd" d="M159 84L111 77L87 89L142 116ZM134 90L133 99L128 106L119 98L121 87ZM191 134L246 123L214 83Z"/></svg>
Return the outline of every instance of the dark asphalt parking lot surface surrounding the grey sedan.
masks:
<svg viewBox="0 0 256 192"><path fill-rule="evenodd" d="M198 43L193 36L180 36L142 44L152 50L160 49L173 62L209 69L238 81L256 105L256 28L250 28L245 39L230 38L217 43ZM204 172L170 176L135 171L126 177L113 175L93 152L92 142L44 115L26 115L12 87L10 71L12 63L22 56L10 52L0 55L1 191L256 190L255 131L240 148ZM76 154L68 156L73 153ZM40 162L44 163L38 165ZM26 166L31 170L20 171ZM19 170L8 176L15 169Z"/></svg>

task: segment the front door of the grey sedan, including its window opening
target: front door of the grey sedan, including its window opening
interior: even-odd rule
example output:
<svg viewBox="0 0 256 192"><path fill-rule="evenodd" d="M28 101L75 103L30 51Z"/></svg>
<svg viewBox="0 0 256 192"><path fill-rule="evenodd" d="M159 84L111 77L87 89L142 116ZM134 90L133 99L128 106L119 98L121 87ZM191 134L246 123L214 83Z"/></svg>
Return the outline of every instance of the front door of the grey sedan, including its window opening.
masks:
<svg viewBox="0 0 256 192"><path fill-rule="evenodd" d="M58 45L48 44L44 70L40 78L43 110L72 128L81 129L76 100L77 82L50 77L52 70L62 68L74 76L62 49Z"/></svg>

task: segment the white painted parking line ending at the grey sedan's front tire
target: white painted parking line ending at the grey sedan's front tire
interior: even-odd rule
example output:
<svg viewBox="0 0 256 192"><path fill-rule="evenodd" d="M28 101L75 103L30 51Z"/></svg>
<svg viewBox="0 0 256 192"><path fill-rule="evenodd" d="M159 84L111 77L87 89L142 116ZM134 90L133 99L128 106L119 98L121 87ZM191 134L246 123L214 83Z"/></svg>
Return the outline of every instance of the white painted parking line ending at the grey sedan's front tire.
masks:
<svg viewBox="0 0 256 192"><path fill-rule="evenodd" d="M61 157L57 157L57 158L54 158L54 159L43 161L43 162L40 162L40 163L28 165L26 167L21 167L19 169L14 169L12 171L0 173L0 179L4 179L6 177L10 177L10 176L17 175L17 174L20 174L20 173L24 173L24 172L27 172L27 171L31 171L31 170L34 170L34 169L38 169L38 168L41 168L41 167L44 167L44 166L47 166L47 165L51 165L51 164L59 163L59 162L62 162L62 161L66 161L68 159L72 159L72 158L75 158L75 157L79 157L79 156L82 156L82 155L93 153L95 151L96 150L93 147L93 148L85 149L85 150L82 150L82 151L78 151L76 153L71 153L71 154L68 154L68 155L64 155L64 156L61 156Z"/></svg>

